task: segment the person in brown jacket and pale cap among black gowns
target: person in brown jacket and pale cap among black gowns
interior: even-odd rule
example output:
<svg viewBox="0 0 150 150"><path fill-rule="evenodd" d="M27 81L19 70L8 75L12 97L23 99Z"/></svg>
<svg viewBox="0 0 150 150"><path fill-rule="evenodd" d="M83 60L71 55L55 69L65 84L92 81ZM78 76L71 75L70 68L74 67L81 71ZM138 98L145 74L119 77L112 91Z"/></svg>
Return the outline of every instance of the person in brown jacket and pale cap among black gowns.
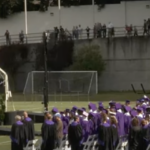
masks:
<svg viewBox="0 0 150 150"><path fill-rule="evenodd" d="M55 114L56 119L56 147L59 148L63 139L63 123L60 113Z"/></svg>

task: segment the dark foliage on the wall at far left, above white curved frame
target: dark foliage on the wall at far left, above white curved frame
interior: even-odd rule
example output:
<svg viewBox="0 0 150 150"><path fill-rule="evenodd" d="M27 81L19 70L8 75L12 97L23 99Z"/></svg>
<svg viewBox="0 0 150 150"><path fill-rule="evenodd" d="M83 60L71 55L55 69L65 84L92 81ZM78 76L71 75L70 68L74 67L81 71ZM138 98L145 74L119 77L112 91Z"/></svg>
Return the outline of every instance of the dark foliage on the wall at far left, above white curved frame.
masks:
<svg viewBox="0 0 150 150"><path fill-rule="evenodd" d="M28 47L26 45L10 45L0 47L0 68L9 76L11 88L14 87L14 76L19 67L28 61Z"/></svg>

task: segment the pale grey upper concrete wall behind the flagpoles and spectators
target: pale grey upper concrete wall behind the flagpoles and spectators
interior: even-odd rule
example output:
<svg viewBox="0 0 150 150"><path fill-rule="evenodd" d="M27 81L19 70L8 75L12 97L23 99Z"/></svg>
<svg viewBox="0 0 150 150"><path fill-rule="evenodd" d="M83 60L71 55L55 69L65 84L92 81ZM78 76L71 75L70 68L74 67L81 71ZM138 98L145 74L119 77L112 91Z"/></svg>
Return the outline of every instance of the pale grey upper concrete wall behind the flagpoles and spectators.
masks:
<svg viewBox="0 0 150 150"><path fill-rule="evenodd" d="M98 11L97 5L95 5L94 19L92 6L62 7L60 19L57 7L50 7L44 13L28 12L28 33L53 29L55 26L59 26L59 22L64 28L70 30L74 25L81 24L85 29L87 25L93 28L94 22L108 24L109 21L116 27L124 27L125 24L142 26L143 20L150 17L150 9L146 8L146 5L150 5L150 1L121 2L120 4L106 5L101 11ZM51 12L54 13L54 16L50 15ZM4 35L6 29L11 34L18 34L20 30L25 30L24 13L11 15L8 19L0 19L0 35Z"/></svg>

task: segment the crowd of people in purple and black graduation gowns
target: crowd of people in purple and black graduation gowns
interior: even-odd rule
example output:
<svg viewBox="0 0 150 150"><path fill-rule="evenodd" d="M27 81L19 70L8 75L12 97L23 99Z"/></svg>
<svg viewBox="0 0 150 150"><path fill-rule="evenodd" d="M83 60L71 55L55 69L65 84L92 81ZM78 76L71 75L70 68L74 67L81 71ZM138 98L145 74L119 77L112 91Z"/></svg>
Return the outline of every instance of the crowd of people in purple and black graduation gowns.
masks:
<svg viewBox="0 0 150 150"><path fill-rule="evenodd" d="M108 108L102 102L98 106L89 103L88 108L74 106L63 112L57 108L46 112L41 127L41 148L58 148L67 136L71 150L81 150L88 136L97 134L99 150L115 150L119 137L125 135L129 150L146 150L150 143L150 99L147 96L138 99L135 107L126 100L124 104L110 101ZM33 139L34 125L27 112L23 119L16 116L11 130L12 150L22 150L27 141Z"/></svg>

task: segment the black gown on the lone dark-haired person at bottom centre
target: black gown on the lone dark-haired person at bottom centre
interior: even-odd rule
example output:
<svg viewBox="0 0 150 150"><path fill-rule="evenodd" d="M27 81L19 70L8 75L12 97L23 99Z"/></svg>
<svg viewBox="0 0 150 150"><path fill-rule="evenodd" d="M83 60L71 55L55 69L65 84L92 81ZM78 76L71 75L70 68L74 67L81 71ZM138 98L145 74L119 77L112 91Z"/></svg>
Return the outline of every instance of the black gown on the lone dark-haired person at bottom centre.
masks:
<svg viewBox="0 0 150 150"><path fill-rule="evenodd" d="M73 122L68 128L68 141L71 146L71 150L79 150L81 140L82 127L79 123Z"/></svg>

